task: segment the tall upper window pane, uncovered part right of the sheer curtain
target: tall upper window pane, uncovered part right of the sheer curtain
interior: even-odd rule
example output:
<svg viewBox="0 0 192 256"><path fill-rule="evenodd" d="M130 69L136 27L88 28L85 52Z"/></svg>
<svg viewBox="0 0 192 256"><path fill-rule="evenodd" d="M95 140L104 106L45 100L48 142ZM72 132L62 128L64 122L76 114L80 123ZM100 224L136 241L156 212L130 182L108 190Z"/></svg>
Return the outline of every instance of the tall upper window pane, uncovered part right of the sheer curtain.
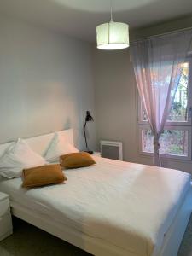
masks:
<svg viewBox="0 0 192 256"><path fill-rule="evenodd" d="M182 76L180 78L168 121L185 122L188 120L188 84L189 84L189 63L184 63Z"/></svg>

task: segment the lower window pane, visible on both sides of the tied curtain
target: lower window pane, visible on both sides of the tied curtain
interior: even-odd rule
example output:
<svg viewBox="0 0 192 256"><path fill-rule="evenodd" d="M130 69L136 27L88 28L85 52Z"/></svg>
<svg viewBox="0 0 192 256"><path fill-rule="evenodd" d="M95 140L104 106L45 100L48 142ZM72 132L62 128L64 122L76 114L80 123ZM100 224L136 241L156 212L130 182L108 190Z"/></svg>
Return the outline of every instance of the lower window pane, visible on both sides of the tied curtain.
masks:
<svg viewBox="0 0 192 256"><path fill-rule="evenodd" d="M154 137L151 130L142 130L143 152L154 151ZM188 156L188 131L164 130L160 137L160 154Z"/></svg>

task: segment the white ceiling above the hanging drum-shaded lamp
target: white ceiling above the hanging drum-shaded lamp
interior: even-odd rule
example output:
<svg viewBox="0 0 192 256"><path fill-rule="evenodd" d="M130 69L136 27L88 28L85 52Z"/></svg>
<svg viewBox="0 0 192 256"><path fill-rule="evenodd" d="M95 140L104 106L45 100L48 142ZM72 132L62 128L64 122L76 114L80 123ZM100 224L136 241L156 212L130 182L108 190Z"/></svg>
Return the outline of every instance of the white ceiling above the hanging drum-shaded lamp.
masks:
<svg viewBox="0 0 192 256"><path fill-rule="evenodd" d="M192 0L113 0L113 20L131 29L192 13ZM96 41L96 25L110 19L110 0L0 0L0 13Z"/></svg>

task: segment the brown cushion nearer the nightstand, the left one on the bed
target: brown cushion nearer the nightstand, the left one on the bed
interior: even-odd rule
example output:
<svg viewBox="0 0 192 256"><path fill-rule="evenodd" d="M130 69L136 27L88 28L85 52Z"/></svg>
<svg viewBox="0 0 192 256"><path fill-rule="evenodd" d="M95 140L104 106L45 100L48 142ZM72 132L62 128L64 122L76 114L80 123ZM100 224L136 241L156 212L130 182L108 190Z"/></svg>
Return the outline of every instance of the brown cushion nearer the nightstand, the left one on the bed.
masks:
<svg viewBox="0 0 192 256"><path fill-rule="evenodd" d="M61 166L46 165L23 170L23 187L32 188L54 183L62 183L67 180Z"/></svg>

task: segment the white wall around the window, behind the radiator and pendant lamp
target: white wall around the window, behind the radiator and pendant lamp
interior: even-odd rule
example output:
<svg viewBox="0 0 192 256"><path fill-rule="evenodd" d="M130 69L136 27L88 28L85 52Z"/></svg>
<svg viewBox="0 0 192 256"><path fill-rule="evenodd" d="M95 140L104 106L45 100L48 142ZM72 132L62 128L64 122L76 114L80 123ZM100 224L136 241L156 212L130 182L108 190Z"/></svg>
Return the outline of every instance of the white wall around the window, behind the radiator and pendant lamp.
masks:
<svg viewBox="0 0 192 256"><path fill-rule="evenodd" d="M167 31L177 28L180 22L167 23ZM185 25L185 23L184 23ZM166 32L158 26L145 29L146 35ZM180 28L180 27L178 27ZM143 33L140 35L143 37ZM136 36L137 35L137 36ZM135 32L139 38L139 33ZM137 125L137 84L130 61L129 49L102 51L93 49L96 88L97 148L99 141L123 142L124 160L152 164L152 158L139 154ZM192 162L162 160L162 165L192 173Z"/></svg>

